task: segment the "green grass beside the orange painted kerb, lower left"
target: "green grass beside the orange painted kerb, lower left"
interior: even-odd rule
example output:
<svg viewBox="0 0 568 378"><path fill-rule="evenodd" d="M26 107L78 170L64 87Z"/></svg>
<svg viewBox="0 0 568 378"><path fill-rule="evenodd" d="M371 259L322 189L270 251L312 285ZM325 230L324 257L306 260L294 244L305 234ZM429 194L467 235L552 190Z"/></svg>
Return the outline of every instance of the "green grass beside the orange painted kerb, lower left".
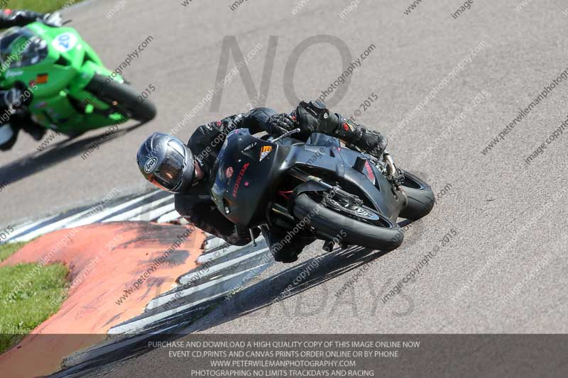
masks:
<svg viewBox="0 0 568 378"><path fill-rule="evenodd" d="M0 245L0 261L23 244ZM61 264L0 267L0 354L58 311L66 296L65 276Z"/></svg>

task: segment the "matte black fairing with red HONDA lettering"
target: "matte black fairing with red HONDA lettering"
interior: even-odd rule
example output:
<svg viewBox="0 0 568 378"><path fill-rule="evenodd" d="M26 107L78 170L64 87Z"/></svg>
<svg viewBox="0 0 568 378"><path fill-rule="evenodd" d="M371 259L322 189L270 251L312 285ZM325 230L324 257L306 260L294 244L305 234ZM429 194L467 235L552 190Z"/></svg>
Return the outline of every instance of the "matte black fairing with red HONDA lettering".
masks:
<svg viewBox="0 0 568 378"><path fill-rule="evenodd" d="M212 199L238 226L258 226L266 222L268 204L285 173L298 167L315 176L333 177L343 189L395 220L403 207L402 199L393 194L391 184L374 165L367 163L364 172L353 169L357 156L361 154L334 143L310 145L286 138L275 144L255 138L247 129L237 129L227 135L217 156Z"/></svg>

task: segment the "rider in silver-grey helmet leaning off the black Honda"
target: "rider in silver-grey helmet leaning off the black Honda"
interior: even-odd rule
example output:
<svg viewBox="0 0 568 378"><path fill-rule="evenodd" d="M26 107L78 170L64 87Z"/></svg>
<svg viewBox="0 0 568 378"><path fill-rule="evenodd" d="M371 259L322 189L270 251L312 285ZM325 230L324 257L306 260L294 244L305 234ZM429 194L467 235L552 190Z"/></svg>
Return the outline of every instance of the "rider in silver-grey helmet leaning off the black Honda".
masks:
<svg viewBox="0 0 568 378"><path fill-rule="evenodd" d="M377 157L387 145L381 133L368 130L339 113L330 113L321 101L302 101L290 114L256 108L207 123L197 128L187 145L172 135L150 135L136 156L143 176L160 189L175 194L175 209L180 215L232 245L251 243L249 230L239 228L218 211L209 189L216 175L213 169L217 153L226 135L236 128L248 128L251 135L265 131L273 136L300 128L294 138L306 141L312 133L324 133ZM280 262L294 262L302 249L315 240L298 233L285 243L285 230L263 226L262 232L275 260Z"/></svg>

